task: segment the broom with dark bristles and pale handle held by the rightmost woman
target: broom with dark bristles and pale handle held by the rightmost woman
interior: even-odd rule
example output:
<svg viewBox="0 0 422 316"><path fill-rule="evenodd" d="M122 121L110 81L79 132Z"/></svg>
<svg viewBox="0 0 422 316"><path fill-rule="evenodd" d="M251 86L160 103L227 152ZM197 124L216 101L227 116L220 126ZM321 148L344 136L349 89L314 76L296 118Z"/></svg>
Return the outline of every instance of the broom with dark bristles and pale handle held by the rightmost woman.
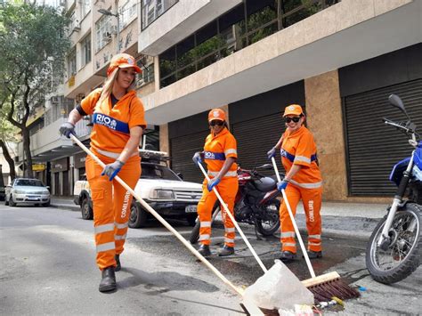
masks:
<svg viewBox="0 0 422 316"><path fill-rule="evenodd" d="M272 166L274 167L277 181L281 182L279 168L277 167L273 157ZM286 207L288 208L288 215L290 216L293 227L295 228L297 240L299 241L300 247L304 254L304 260L306 261L312 277L311 279L303 280L302 284L304 284L304 286L312 292L315 303L330 301L331 297L333 296L336 296L341 300L359 297L359 292L345 284L345 282L341 280L340 275L336 271L322 274L318 277L315 275L311 260L309 259L309 255L306 251L306 248L304 247L304 240L302 239L299 229L297 228L295 216L293 216L293 212L291 210L290 204L288 203L288 197L286 196L284 189L281 190L281 194L283 195L284 203L286 203Z"/></svg>

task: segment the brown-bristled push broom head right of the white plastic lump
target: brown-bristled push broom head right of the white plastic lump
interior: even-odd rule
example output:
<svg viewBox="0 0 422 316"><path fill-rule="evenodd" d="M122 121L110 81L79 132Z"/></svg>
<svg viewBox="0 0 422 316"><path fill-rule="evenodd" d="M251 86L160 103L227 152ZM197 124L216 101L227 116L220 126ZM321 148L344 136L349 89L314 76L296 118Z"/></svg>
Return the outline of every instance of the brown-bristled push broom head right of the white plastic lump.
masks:
<svg viewBox="0 0 422 316"><path fill-rule="evenodd" d="M302 284L312 292L315 304L329 302L333 297L345 300L361 296L358 290L345 284L336 271L303 280Z"/></svg>

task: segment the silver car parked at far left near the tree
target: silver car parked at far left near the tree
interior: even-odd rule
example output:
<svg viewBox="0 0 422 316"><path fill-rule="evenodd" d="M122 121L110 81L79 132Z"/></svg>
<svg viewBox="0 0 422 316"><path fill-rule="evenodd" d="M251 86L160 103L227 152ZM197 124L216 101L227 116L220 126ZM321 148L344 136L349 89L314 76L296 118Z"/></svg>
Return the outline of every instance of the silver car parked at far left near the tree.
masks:
<svg viewBox="0 0 422 316"><path fill-rule="evenodd" d="M37 179L16 178L6 187L4 204L16 207L18 203L48 207L50 191Z"/></svg>

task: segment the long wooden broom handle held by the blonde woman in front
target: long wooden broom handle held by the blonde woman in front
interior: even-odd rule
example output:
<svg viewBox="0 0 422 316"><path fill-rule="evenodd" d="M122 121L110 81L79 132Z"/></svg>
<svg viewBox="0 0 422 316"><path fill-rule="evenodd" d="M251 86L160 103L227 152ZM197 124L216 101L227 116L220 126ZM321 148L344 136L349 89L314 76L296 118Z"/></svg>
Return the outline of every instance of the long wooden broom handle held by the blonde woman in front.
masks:
<svg viewBox="0 0 422 316"><path fill-rule="evenodd" d="M100 158L98 158L98 157L96 157L94 154L93 154L93 152L91 151L91 150L88 150L86 147L85 147L85 145L82 143L82 142L79 142L79 140L77 139L77 137L75 136L75 135L73 135L73 134L70 134L70 138L72 139L72 141L73 142L76 142L77 143L77 145L82 149L82 150L84 150L91 158L93 158L93 160L95 160L95 162L97 163L97 164L99 164L100 166L102 166L102 167L104 167L105 166L105 164L100 160ZM211 263L209 263L208 261L207 261L207 259L206 258L204 258L202 255L200 255L199 254L199 252L198 252L198 250L197 249L195 249L194 247L192 247L191 246L191 244L186 240L186 239L184 239L183 238L183 236L178 232L178 231L176 231L176 230L174 230L174 228L169 224L169 223L167 223L166 222L166 220L163 218L163 217L161 217L152 207L150 207L149 205L148 205L148 203L147 202L145 202L134 190L132 190L132 188L131 187L129 187L127 184L126 184L126 182L124 182L120 177L118 177L118 175L114 178L117 182L119 182L126 190L128 190L133 196L134 196L134 198L136 199L136 200L138 200L141 204L142 204L142 207L144 207L146 210L148 210L149 212L150 212L150 214L151 215L153 215L155 218L157 218L158 219L158 221L160 222L160 223L162 223L165 227L166 227L166 229L168 230L168 231L171 231L171 232L173 232L173 234L174 234L174 236L177 238L177 239L179 239L180 241L182 241L182 243L183 243L183 245L185 246L185 247L187 247L190 251L191 251L191 253L193 254L193 255L196 255L196 257L202 262L202 263L204 263L206 266L207 266L207 268L209 268L211 271L213 271L214 273L215 273L215 275L218 277L218 278L220 278L221 280L223 280L223 282L225 283L225 284L227 284L230 288L232 288L236 293L238 293L240 296L243 296L243 289L242 288L238 288L238 287L236 287L236 286L234 286L232 283L231 283L231 281L229 281L229 280L227 280L224 276L223 276L223 274L220 272L220 271L218 271L216 268L215 268L215 266L214 265L212 265Z"/></svg>

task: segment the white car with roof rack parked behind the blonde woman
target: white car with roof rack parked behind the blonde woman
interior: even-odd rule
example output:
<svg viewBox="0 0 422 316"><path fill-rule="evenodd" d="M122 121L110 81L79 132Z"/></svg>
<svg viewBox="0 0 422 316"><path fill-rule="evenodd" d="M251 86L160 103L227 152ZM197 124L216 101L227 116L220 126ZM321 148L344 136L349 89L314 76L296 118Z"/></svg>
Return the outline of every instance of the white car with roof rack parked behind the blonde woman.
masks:
<svg viewBox="0 0 422 316"><path fill-rule="evenodd" d="M186 182L168 166L159 161L166 153L140 150L142 175L134 191L144 199L159 215L185 218L193 226L197 218L197 205L202 196L202 185ZM93 219L93 205L87 181L77 181L74 187L74 202L81 206L82 218ZM133 199L129 217L129 227L145 226L150 214L141 203Z"/></svg>

